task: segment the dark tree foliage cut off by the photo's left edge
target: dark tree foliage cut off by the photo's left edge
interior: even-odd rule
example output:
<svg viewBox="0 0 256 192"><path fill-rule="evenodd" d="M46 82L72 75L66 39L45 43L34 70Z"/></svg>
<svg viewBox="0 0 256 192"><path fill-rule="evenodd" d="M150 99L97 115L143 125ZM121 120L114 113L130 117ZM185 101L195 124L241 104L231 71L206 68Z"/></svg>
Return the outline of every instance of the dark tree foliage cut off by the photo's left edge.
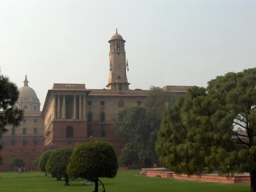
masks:
<svg viewBox="0 0 256 192"><path fill-rule="evenodd" d="M10 82L9 77L0 74L0 139L7 131L5 128L7 125L18 127L23 119L23 111L13 108L18 98L19 91L16 84ZM2 145L0 145L0 150L1 148Z"/></svg>

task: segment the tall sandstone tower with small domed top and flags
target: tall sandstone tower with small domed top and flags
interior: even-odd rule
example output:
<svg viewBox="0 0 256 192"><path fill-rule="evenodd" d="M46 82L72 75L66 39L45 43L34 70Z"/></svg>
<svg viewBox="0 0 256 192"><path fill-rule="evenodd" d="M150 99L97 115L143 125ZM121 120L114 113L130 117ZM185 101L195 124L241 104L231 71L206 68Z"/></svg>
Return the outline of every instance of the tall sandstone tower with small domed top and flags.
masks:
<svg viewBox="0 0 256 192"><path fill-rule="evenodd" d="M110 43L109 52L109 80L107 88L111 90L129 90L129 84L126 76L126 60L124 43L121 35L114 34L108 41Z"/></svg>

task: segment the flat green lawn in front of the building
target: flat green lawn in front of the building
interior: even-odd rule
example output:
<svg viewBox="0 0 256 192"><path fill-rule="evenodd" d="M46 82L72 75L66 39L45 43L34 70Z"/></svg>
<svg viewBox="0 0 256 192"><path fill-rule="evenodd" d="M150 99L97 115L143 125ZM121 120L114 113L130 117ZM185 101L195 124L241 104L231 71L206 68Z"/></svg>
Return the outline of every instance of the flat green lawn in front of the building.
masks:
<svg viewBox="0 0 256 192"><path fill-rule="evenodd" d="M101 179L106 192L250 192L250 184L219 184L199 181L185 181L146 176L136 176L140 170L118 171L115 179ZM1 192L92 192L94 186L84 186L85 180L64 181L56 178L44 178L44 173L0 173ZM99 186L99 191L103 191Z"/></svg>

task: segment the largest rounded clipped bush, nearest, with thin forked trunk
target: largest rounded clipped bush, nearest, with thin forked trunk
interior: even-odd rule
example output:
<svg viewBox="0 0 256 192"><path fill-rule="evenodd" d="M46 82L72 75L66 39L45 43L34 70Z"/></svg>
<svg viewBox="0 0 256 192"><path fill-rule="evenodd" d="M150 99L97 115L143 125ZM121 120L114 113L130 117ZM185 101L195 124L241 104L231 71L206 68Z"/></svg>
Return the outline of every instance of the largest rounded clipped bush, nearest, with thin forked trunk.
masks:
<svg viewBox="0 0 256 192"><path fill-rule="evenodd" d="M95 182L94 191L98 192L98 181L101 183L99 178L114 178L117 169L117 157L113 146L107 141L93 141L74 148L67 173L70 178L81 177Z"/></svg>

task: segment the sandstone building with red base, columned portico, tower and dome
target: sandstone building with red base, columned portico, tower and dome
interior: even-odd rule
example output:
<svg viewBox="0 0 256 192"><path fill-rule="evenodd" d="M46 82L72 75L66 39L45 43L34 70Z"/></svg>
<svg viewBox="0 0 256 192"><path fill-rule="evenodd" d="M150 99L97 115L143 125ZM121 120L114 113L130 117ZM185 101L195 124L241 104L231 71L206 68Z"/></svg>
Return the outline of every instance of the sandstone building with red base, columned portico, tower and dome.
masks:
<svg viewBox="0 0 256 192"><path fill-rule="evenodd" d="M8 163L14 157L23 158L26 168L31 169L33 159L44 151L61 146L74 147L89 140L108 140L120 156L123 146L111 127L111 118L125 106L143 104L149 90L129 89L125 40L117 30L108 42L107 89L86 89L85 84L72 82L54 83L40 111L40 101L25 77L15 104L15 108L24 110L24 120L18 128L8 126L8 132L3 135L7 143L0 152L3 159L0 171L8 171ZM164 89L167 88L184 95L190 86L166 86Z"/></svg>

